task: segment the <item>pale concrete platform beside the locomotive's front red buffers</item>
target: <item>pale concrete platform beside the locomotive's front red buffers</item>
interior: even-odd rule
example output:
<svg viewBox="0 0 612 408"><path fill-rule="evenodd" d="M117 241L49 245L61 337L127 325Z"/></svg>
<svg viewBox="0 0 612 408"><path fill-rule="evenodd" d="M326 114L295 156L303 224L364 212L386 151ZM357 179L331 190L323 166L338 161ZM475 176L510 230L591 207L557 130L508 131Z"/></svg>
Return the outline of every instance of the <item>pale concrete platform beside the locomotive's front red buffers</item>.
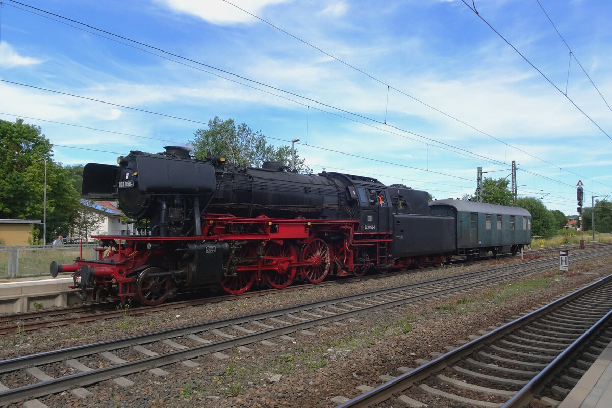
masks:
<svg viewBox="0 0 612 408"><path fill-rule="evenodd" d="M78 302L72 276L21 278L0 282L0 313L18 313Z"/></svg>

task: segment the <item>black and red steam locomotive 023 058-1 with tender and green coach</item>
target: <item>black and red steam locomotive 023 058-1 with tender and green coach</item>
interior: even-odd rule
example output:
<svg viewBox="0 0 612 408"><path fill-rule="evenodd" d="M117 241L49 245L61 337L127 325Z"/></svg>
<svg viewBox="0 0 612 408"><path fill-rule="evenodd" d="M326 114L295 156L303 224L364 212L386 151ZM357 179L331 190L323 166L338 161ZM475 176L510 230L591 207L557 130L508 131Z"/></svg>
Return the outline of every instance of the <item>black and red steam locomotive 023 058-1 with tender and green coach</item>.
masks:
<svg viewBox="0 0 612 408"><path fill-rule="evenodd" d="M422 268L453 254L515 253L531 243L531 215L518 207L429 203L426 191L371 177L297 174L277 161L247 168L165 149L84 167L83 196L116 199L129 217L149 220L149 232L94 236L99 259L52 262L52 276L73 273L81 299L89 287L94 300L159 305L179 289L239 294L255 283L280 288L296 279Z"/></svg>

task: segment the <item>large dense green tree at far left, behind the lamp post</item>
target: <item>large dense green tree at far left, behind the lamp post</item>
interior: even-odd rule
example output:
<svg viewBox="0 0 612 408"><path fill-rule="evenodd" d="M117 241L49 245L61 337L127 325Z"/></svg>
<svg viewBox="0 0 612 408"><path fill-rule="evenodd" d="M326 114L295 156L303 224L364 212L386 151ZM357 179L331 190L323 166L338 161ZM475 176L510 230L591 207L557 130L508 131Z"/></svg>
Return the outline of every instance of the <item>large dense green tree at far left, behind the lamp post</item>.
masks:
<svg viewBox="0 0 612 408"><path fill-rule="evenodd" d="M0 121L0 218L43 219L47 160L47 240L67 235L78 206L68 171L53 161L51 147L39 127Z"/></svg>

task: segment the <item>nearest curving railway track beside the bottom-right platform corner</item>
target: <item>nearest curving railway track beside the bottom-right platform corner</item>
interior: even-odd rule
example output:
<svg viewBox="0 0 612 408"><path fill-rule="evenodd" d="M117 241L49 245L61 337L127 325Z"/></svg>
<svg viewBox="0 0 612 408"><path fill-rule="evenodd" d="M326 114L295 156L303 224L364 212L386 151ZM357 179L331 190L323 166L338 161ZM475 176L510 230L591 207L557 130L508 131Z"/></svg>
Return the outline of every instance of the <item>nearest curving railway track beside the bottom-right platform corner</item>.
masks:
<svg viewBox="0 0 612 408"><path fill-rule="evenodd" d="M557 406L612 341L612 275L441 355L339 408ZM431 403L431 401L434 401ZM538 405L539 406L539 405Z"/></svg>

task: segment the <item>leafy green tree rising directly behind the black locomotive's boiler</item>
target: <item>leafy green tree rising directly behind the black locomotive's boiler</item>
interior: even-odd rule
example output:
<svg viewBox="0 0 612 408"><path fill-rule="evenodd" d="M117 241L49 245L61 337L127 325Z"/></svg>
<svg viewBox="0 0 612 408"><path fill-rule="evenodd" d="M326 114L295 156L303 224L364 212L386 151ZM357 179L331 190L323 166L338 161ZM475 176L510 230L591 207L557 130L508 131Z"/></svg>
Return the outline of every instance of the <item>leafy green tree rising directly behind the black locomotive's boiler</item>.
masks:
<svg viewBox="0 0 612 408"><path fill-rule="evenodd" d="M261 167L264 161L275 160L291 166L291 147L274 147L267 143L261 131L253 132L246 124L234 124L233 119L222 121L218 116L208 121L207 129L194 133L193 155L205 158L206 155L223 156L239 166ZM296 149L297 150L297 149ZM312 173L305 165L305 159L294 151L295 168L302 173Z"/></svg>

